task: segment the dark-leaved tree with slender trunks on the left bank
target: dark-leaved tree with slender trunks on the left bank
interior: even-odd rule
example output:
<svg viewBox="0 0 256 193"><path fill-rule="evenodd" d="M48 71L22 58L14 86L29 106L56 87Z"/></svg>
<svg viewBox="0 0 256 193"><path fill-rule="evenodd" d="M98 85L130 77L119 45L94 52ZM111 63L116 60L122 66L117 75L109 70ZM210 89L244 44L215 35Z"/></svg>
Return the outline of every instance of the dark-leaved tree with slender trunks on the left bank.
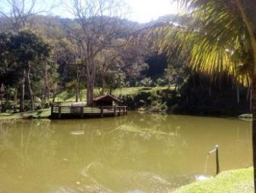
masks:
<svg viewBox="0 0 256 193"><path fill-rule="evenodd" d="M21 89L20 89L20 112L24 111L24 91L25 81L27 79L29 98L31 102L31 109L34 110L33 91L31 88L30 73L31 66L36 68L40 62L44 62L51 52L51 48L39 36L31 31L20 31L19 33L9 33L8 44L8 58L6 62L9 65L15 64L15 70L20 72Z"/></svg>

